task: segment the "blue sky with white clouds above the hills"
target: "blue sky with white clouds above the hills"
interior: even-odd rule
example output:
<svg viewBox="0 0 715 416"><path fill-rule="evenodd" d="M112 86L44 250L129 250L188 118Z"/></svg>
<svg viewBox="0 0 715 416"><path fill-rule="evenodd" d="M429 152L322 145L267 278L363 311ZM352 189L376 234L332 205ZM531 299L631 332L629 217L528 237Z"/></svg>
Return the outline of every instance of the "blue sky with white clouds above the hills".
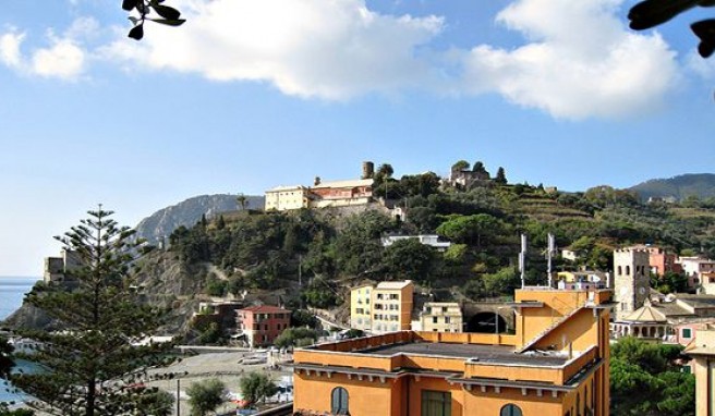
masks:
<svg viewBox="0 0 715 416"><path fill-rule="evenodd" d="M633 33L619 0L168 0L187 23L136 42L120 3L3 2L0 276L39 276L98 203L135 225L363 160L567 191L713 172L699 11Z"/></svg>

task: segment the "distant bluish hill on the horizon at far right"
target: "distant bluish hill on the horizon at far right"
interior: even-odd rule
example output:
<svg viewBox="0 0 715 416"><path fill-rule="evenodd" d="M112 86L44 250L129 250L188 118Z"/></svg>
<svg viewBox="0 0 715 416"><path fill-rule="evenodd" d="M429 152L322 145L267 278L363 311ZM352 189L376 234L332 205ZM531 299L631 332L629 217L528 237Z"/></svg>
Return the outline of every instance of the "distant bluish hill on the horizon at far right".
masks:
<svg viewBox="0 0 715 416"><path fill-rule="evenodd" d="M684 200L689 196L696 196L701 199L713 198L715 197L715 174L691 173L670 179L654 179L632 186L630 191L637 192L641 200L649 198Z"/></svg>

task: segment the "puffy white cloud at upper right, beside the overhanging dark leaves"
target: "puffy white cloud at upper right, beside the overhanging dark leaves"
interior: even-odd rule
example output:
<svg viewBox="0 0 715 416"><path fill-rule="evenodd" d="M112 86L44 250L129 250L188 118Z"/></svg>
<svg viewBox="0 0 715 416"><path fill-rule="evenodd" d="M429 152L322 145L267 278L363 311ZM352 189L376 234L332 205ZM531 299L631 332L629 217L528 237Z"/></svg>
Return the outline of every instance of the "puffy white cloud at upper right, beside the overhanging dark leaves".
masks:
<svg viewBox="0 0 715 416"><path fill-rule="evenodd" d="M520 0L497 21L531 42L486 45L465 60L472 93L497 91L556 118L620 118L653 109L678 78L676 54L659 35L637 35L609 0Z"/></svg>

